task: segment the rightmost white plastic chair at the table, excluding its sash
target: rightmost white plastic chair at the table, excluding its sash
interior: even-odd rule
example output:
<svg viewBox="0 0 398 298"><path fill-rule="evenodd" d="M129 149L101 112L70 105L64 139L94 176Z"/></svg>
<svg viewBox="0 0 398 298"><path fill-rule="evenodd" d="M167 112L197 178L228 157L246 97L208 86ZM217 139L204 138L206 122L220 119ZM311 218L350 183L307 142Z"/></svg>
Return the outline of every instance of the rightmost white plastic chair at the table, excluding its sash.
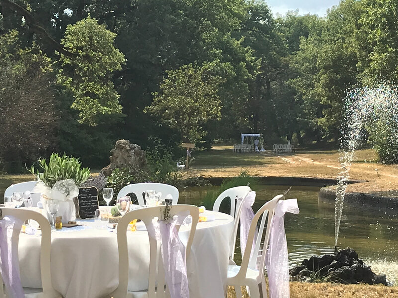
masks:
<svg viewBox="0 0 398 298"><path fill-rule="evenodd" d="M229 265L228 275L227 275L227 285L234 286L236 291L236 297L241 298L242 292L241 286L248 286L250 290L251 298L266 298L267 290L264 277L264 266L265 266L265 254L267 252L267 246L269 242L269 227L271 224L271 219L274 216L274 209L278 201L283 198L283 195L275 196L271 201L265 203L259 211L254 215L253 221L250 224L249 235L247 238L245 253L242 257L242 264ZM263 245L261 246L261 239L264 232L265 221L268 214L267 229L264 237ZM253 255L250 258L251 250L254 242L254 234L257 227L257 223L260 219L260 228L258 230L257 241L255 243ZM260 257L260 262L258 263L258 258ZM258 264L258 268L256 268Z"/></svg>

